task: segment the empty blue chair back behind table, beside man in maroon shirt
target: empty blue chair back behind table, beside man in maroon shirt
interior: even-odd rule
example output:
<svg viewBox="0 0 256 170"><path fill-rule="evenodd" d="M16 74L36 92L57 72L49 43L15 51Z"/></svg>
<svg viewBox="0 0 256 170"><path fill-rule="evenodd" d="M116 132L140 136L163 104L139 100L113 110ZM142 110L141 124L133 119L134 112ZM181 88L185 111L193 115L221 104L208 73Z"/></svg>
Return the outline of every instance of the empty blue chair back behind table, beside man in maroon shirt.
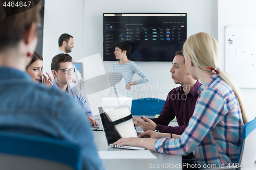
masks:
<svg viewBox="0 0 256 170"><path fill-rule="evenodd" d="M165 101L156 98L143 98L132 101L132 115L155 116L163 110Z"/></svg>

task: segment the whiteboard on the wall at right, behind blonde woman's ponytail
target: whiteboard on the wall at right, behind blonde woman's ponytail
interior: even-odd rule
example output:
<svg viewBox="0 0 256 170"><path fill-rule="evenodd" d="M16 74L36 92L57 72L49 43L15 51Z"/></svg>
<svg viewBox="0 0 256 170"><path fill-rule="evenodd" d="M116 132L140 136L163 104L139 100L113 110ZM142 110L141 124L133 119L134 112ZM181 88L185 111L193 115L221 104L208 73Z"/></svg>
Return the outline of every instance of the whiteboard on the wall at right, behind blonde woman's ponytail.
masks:
<svg viewBox="0 0 256 170"><path fill-rule="evenodd" d="M239 88L256 88L256 26L225 27L225 71Z"/></svg>

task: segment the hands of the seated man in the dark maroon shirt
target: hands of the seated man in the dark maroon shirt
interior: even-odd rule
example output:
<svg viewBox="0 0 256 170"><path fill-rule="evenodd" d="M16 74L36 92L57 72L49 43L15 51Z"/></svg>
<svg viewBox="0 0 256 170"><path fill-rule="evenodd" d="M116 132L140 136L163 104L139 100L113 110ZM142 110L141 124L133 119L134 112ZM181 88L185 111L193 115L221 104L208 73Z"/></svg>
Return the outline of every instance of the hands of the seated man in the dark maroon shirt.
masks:
<svg viewBox="0 0 256 170"><path fill-rule="evenodd" d="M140 126L144 132L148 130L154 131L157 127L157 124L153 120L147 118L146 116L143 116L143 119L134 116L133 119L134 119L134 122L136 122L134 123L135 127Z"/></svg>

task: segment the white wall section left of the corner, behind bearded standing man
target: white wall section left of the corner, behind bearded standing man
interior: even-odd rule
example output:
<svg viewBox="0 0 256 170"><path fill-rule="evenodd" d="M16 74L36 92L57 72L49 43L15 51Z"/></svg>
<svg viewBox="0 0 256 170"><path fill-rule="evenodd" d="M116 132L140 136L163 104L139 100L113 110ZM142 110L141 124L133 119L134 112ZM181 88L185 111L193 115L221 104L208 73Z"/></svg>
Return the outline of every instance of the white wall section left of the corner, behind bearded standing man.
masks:
<svg viewBox="0 0 256 170"><path fill-rule="evenodd" d="M44 18L44 39L42 57L44 58L44 72L51 72L51 60L58 48L59 36L68 33L74 37L74 48L70 55L82 57L84 48L84 1L82 0L46 0Z"/></svg>

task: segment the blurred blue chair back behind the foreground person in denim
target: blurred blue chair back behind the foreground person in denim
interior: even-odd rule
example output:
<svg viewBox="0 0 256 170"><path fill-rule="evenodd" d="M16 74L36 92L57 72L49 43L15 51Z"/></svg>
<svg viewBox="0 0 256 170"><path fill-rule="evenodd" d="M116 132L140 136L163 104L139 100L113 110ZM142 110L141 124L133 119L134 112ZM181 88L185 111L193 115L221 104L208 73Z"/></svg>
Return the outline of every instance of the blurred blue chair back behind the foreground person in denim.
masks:
<svg viewBox="0 0 256 170"><path fill-rule="evenodd" d="M78 145L49 137L0 132L0 169L81 168Z"/></svg>

